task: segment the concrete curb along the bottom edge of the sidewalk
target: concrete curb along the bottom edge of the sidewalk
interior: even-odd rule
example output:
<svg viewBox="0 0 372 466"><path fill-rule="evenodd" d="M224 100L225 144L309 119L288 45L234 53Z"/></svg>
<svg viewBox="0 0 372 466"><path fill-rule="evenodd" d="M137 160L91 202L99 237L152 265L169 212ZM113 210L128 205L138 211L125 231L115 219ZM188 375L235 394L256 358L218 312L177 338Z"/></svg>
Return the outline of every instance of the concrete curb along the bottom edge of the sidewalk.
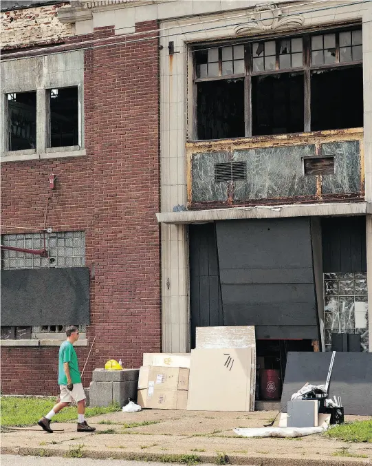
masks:
<svg viewBox="0 0 372 466"><path fill-rule="evenodd" d="M18 454L20 456L61 456L66 457L70 449L52 449L52 448L32 448L32 447L1 447L1 454ZM82 449L82 458L93 459L113 459L113 460L137 460L137 461L158 461L160 463L181 463L182 454L169 453L134 453L134 452L107 452ZM246 466L360 466L371 465L371 460L360 458L359 460L351 458L333 459L306 459L306 458L278 458L278 457L256 457L256 456L216 456L216 455L195 455L198 458L197 463L217 464L217 465L246 465ZM70 457L70 456L68 456ZM74 456L71 456L72 458ZM197 464L195 463L195 464Z"/></svg>

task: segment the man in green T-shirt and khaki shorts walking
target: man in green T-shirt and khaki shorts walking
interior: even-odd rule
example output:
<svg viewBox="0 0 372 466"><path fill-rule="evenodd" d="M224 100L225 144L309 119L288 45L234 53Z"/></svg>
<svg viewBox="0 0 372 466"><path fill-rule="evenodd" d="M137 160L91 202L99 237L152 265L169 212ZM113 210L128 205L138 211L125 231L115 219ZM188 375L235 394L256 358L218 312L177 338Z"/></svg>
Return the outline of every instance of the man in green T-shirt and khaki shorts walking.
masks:
<svg viewBox="0 0 372 466"><path fill-rule="evenodd" d="M78 404L77 431L94 432L96 427L90 427L84 419L85 393L78 368L78 357L73 346L75 341L78 340L79 331L75 326L69 326L66 329L66 335L66 341L63 341L59 348L58 384L61 390L60 401L53 407L52 411L40 419L38 424L47 432L53 432L50 428L50 421L54 414L57 414L75 400Z"/></svg>

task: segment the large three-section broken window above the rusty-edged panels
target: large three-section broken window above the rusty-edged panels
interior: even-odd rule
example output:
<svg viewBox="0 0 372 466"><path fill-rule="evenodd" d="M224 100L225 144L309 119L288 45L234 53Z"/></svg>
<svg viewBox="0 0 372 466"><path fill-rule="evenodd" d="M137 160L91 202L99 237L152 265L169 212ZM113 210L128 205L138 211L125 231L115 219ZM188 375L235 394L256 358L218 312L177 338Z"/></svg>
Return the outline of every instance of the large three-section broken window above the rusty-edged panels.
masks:
<svg viewBox="0 0 372 466"><path fill-rule="evenodd" d="M196 138L362 127L362 30L195 50Z"/></svg>

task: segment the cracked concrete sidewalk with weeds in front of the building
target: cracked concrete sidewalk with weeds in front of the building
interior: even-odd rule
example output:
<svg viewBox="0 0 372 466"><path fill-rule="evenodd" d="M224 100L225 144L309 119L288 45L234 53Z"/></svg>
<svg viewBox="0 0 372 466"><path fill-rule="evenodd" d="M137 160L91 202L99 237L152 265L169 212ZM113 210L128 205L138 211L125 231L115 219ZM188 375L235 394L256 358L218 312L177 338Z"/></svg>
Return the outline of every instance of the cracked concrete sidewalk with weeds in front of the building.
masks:
<svg viewBox="0 0 372 466"><path fill-rule="evenodd" d="M123 458L164 462L228 462L241 465L372 464L372 444L345 443L319 435L299 439L243 438L234 427L262 427L276 412L193 412L143 410L89 418L94 434L76 432L75 423L52 423L64 432L12 431L1 436L2 454ZM346 416L346 421L369 419ZM133 423L138 425L134 427ZM35 428L38 428L36 426ZM344 456L334 456L336 452ZM357 456L358 455L358 456ZM360 456L366 456L360 457Z"/></svg>

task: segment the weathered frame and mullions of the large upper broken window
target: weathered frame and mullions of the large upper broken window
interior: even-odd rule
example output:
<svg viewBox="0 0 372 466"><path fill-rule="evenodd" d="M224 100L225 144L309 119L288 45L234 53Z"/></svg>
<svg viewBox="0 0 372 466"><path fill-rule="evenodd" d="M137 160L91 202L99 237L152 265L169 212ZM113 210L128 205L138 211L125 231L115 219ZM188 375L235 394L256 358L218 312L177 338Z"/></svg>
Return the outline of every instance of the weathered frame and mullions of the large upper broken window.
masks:
<svg viewBox="0 0 372 466"><path fill-rule="evenodd" d="M309 32L303 32L301 34L283 34L283 36L254 36L243 39L235 39L228 43L221 42L218 44L204 43L201 45L194 45L191 49L191 56L193 57L193 126L192 126L192 138L188 138L189 141L197 141L197 83L206 82L206 81L219 81L221 79L244 79L244 120L245 120L245 134L241 138L250 138L252 137L252 76L267 76L273 74L281 73L303 73L304 75L304 133L311 131L311 72L314 70L329 70L337 68L346 68L346 67L356 67L362 66L363 60L352 60L340 62L340 33L341 32L352 32L354 30L362 31L362 25L360 23L353 23L349 25L344 25L343 27L338 26L337 28L322 28L319 30L313 30ZM311 37L319 35L335 34L336 41L336 57L335 63L324 63L322 65L312 65L311 64ZM352 36L352 34L351 34ZM303 66L302 67L291 67L286 69L280 69L279 67L279 57L280 57L280 41L283 39L303 39ZM264 70L264 71L253 71L253 52L252 46L257 42L266 42L266 41L275 41L275 70ZM208 46L209 45L209 46ZM230 74L222 76L221 72L221 50L223 47L230 45L244 45L244 56L245 56L245 73L244 74ZM362 44L363 45L363 44ZM352 47L352 45L350 45ZM197 59L196 54L198 50L208 50L210 48L217 48L219 51L219 76L208 76L206 78L197 78ZM288 133L290 134L290 133ZM272 135L267 135L272 136Z"/></svg>

